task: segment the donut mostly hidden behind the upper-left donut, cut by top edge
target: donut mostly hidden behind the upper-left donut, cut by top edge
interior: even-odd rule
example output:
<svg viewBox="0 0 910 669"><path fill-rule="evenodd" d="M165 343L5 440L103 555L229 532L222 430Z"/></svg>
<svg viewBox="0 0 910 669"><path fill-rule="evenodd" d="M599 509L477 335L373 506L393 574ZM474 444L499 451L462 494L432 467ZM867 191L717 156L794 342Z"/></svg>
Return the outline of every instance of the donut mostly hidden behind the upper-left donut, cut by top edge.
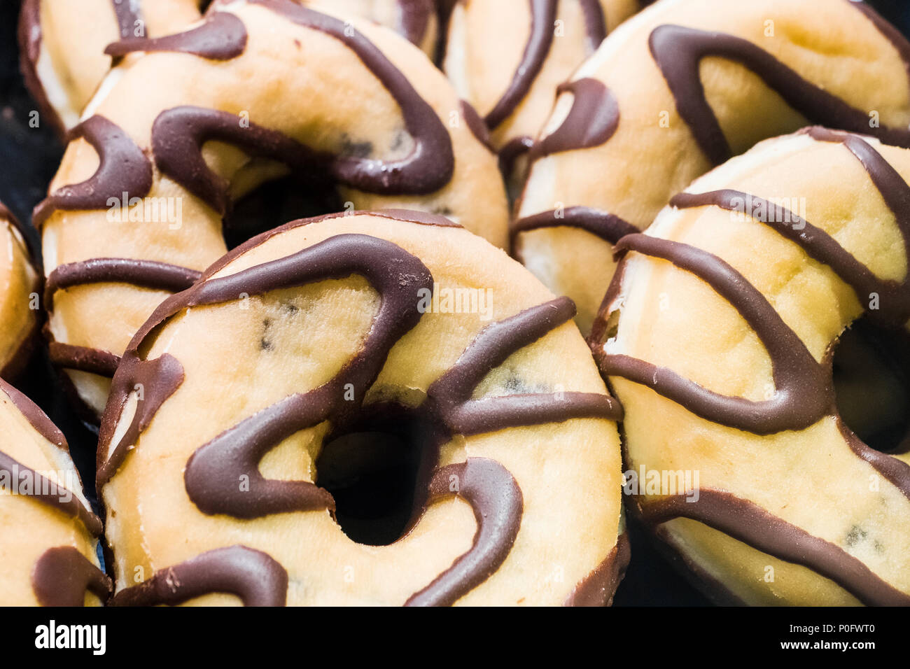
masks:
<svg viewBox="0 0 910 669"><path fill-rule="evenodd" d="M437 16L432 0L316 0L336 13L393 26L432 55ZM25 0L19 45L25 84L42 115L65 134L111 67L105 48L122 38L177 33L199 19L202 0Z"/></svg>

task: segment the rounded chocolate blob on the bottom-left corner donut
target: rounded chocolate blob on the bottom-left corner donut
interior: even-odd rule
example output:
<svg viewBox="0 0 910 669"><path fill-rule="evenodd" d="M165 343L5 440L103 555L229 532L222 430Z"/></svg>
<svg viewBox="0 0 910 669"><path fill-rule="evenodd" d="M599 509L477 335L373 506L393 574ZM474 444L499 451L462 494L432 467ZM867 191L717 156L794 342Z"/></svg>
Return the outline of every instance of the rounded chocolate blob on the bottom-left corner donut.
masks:
<svg viewBox="0 0 910 669"><path fill-rule="evenodd" d="M105 603L111 587L106 573L72 546L47 549L32 571L32 590L42 606L84 606L86 592Z"/></svg>

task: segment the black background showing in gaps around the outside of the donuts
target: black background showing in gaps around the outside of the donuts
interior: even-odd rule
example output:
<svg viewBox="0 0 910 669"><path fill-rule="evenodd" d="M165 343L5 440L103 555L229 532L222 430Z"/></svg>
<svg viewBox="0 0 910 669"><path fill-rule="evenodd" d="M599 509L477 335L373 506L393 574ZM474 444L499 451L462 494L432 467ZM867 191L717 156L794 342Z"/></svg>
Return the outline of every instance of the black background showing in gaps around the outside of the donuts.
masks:
<svg viewBox="0 0 910 669"><path fill-rule="evenodd" d="M901 28L905 35L910 35L910 7L906 0L876 0L869 4ZM44 198L47 185L54 177L63 147L50 127L28 127L28 115L35 109L35 103L25 91L18 69L15 35L18 7L17 0L0 0L0 201L28 224L32 208ZM30 226L26 225L26 228L37 248L37 234ZM86 493L94 497L96 437L69 409L43 354L31 363L19 385L66 433L76 465L86 481ZM632 564L616 594L616 605L708 603L655 552L640 528L632 526L630 532Z"/></svg>

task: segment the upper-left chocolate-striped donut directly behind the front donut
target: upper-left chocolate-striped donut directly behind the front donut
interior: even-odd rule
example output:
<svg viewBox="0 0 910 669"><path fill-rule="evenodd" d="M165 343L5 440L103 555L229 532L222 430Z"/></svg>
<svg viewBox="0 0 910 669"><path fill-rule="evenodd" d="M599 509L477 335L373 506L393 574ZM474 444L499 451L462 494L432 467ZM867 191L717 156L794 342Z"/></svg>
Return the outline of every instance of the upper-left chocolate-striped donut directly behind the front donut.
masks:
<svg viewBox="0 0 910 669"><path fill-rule="evenodd" d="M349 210L429 210L507 244L496 157L470 107L384 27L241 0L186 33L108 52L123 64L35 209L51 359L96 414L136 329L227 250L231 202L288 169L338 185Z"/></svg>

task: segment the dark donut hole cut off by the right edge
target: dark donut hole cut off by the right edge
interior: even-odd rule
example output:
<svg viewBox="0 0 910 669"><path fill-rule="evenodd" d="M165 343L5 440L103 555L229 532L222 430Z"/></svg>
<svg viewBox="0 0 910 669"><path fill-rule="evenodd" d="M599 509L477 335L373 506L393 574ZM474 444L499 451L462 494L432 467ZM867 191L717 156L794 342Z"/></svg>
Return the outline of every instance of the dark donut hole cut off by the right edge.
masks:
<svg viewBox="0 0 910 669"><path fill-rule="evenodd" d="M910 334L860 319L838 341L832 367L846 426L876 451L910 451Z"/></svg>

